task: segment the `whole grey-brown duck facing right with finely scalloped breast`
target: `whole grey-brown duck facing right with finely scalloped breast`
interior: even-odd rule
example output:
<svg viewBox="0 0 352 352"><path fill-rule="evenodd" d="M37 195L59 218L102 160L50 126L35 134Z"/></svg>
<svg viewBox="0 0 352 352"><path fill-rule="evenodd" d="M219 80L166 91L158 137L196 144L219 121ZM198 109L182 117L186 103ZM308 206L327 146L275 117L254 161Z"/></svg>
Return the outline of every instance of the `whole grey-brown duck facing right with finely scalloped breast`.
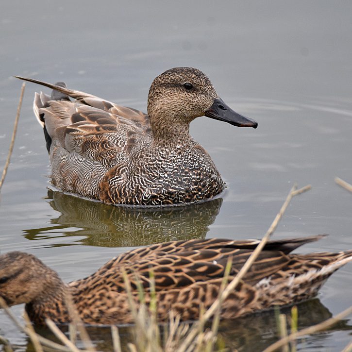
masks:
<svg viewBox="0 0 352 352"><path fill-rule="evenodd" d="M190 122L205 115L240 127L258 125L235 113L208 77L191 67L172 68L154 79L148 115L63 82L16 77L53 89L51 96L34 98L53 185L107 204L178 205L213 198L224 182L190 136Z"/></svg>

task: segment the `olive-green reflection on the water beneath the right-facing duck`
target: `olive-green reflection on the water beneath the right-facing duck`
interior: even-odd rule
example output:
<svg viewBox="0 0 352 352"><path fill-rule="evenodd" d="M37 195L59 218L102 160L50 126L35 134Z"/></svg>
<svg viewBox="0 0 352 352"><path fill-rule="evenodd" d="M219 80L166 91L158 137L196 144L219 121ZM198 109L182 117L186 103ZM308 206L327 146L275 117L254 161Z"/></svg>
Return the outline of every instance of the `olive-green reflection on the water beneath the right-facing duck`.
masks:
<svg viewBox="0 0 352 352"><path fill-rule="evenodd" d="M222 204L222 199L218 198L185 207L127 208L53 190L48 190L48 199L51 207L61 215L50 219L54 226L24 230L27 239L85 236L79 240L81 244L102 247L133 247L204 238ZM74 244L70 241L55 246Z"/></svg>

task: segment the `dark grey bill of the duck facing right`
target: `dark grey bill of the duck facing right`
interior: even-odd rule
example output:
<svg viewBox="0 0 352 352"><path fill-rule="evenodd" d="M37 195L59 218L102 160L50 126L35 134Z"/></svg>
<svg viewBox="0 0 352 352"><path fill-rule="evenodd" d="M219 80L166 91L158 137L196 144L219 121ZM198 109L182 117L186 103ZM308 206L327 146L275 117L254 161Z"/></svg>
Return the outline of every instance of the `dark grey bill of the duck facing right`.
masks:
<svg viewBox="0 0 352 352"><path fill-rule="evenodd" d="M216 120L225 121L231 125L238 127L253 127L257 128L258 123L249 117L245 117L237 114L228 105L226 105L222 99L216 98L213 105L205 111L206 117L215 118Z"/></svg>

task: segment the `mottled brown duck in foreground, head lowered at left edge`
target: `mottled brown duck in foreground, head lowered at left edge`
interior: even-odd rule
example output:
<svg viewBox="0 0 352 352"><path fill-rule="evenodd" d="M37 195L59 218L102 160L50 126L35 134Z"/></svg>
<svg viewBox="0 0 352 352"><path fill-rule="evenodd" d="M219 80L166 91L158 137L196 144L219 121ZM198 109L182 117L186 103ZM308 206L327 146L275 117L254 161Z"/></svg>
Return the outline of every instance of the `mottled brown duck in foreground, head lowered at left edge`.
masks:
<svg viewBox="0 0 352 352"><path fill-rule="evenodd" d="M291 254L302 244L322 235L271 240L223 302L222 318L235 318L307 300L338 268L352 260L352 250ZM14 251L0 256L0 296L8 305L26 303L37 324L45 318L67 323L66 293L72 296L79 316L88 324L133 322L123 272L129 278L138 304L137 280L150 302L150 270L155 277L157 318L168 319L172 310L182 320L199 318L218 297L229 258L233 279L258 240L203 239L154 244L113 258L94 274L64 284L58 274L34 255Z"/></svg>

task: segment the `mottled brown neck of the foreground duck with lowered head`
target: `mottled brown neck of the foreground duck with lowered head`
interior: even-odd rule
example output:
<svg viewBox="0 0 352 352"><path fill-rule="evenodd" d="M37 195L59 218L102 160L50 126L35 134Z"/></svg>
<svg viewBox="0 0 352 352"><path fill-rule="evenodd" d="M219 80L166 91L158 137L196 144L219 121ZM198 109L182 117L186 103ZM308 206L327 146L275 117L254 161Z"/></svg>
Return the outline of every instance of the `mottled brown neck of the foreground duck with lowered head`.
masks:
<svg viewBox="0 0 352 352"><path fill-rule="evenodd" d="M68 286L53 270L42 284L41 292L25 306L31 321L45 324L45 319L50 318L59 323L68 322L70 320L66 306L67 293L70 291Z"/></svg>

